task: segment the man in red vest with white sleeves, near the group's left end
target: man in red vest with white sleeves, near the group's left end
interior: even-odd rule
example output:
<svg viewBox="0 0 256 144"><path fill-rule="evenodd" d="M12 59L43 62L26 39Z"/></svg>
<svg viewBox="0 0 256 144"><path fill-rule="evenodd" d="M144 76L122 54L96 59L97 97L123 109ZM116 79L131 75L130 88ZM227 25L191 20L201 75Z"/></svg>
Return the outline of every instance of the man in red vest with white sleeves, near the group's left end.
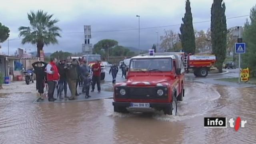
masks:
<svg viewBox="0 0 256 144"><path fill-rule="evenodd" d="M47 64L46 66L49 102L54 102L54 100L56 100L56 98L53 97L53 94L56 87L56 82L58 81L60 76L58 68L56 66L56 62L56 58L51 58L49 64Z"/></svg>

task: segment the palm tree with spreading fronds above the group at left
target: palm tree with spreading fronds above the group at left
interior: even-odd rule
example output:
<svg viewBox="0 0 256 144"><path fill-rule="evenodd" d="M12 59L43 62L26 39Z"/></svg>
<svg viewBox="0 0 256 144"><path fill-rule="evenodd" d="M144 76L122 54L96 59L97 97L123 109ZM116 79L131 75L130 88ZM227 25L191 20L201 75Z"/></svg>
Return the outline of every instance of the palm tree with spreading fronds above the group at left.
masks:
<svg viewBox="0 0 256 144"><path fill-rule="evenodd" d="M36 44L38 57L44 45L58 44L56 37L61 37L59 34L61 29L54 25L59 20L52 20L52 16L53 14L48 14L47 12L43 12L43 10L38 10L36 13L31 11L30 14L28 13L30 26L21 26L19 28L19 36L23 37L21 43Z"/></svg>

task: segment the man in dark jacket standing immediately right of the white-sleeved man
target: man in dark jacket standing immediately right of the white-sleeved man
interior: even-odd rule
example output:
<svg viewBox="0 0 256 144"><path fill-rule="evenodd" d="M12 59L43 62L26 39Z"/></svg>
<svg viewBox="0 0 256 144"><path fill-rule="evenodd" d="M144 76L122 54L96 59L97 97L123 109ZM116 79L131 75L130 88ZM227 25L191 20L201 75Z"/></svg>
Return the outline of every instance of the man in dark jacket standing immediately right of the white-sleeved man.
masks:
<svg viewBox="0 0 256 144"><path fill-rule="evenodd" d="M64 90L64 97L67 98L67 70L64 68L66 60L64 58L60 59L60 63L57 64L60 80L58 82L58 95L60 99L62 99L62 92Z"/></svg>

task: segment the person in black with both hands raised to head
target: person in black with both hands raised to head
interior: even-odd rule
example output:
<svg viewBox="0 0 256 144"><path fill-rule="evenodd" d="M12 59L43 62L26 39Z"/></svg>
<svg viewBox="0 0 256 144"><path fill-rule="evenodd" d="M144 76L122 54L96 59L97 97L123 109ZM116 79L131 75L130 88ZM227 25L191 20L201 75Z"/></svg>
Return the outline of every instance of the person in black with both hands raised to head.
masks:
<svg viewBox="0 0 256 144"><path fill-rule="evenodd" d="M38 93L40 95L39 99L43 99L43 93L44 93L44 83L45 83L45 68L46 68L47 63L46 62L34 62L32 64L33 68L35 69L36 73L36 90L38 90Z"/></svg>

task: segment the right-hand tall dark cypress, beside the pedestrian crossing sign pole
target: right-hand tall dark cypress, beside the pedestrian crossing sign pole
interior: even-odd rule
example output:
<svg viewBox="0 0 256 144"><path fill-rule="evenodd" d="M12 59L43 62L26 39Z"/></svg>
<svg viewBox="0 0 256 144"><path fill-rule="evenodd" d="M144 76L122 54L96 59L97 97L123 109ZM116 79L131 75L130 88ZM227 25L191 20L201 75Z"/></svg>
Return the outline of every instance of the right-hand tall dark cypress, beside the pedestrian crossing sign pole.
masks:
<svg viewBox="0 0 256 144"><path fill-rule="evenodd" d="M222 64L226 58L227 24L223 0L214 0L211 10L212 52L216 55L216 67L222 72Z"/></svg>

